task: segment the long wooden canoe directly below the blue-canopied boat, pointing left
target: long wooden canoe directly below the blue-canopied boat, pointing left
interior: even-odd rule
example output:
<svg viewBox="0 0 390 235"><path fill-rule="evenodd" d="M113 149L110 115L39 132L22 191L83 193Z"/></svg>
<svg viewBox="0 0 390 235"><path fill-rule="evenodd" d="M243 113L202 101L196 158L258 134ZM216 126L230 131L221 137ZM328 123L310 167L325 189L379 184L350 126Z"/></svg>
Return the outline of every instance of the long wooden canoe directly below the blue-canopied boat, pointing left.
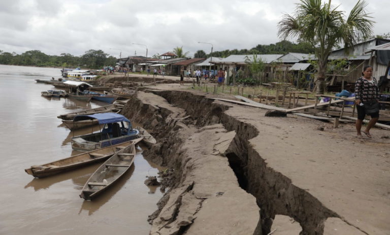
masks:
<svg viewBox="0 0 390 235"><path fill-rule="evenodd" d="M53 176L59 173L75 170L89 164L107 160L107 158L113 156L115 152L119 151L119 149L125 148L131 144L138 144L141 140L142 138L138 138L132 141L77 154L42 165L32 165L29 169L25 169L24 171L36 178Z"/></svg>

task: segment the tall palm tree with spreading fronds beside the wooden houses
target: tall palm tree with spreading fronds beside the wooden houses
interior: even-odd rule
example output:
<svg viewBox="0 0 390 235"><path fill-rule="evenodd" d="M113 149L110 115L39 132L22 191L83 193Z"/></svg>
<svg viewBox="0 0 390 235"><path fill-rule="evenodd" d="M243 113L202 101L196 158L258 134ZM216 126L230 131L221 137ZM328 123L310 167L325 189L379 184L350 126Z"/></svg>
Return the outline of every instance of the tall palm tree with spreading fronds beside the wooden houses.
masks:
<svg viewBox="0 0 390 235"><path fill-rule="evenodd" d="M285 40L298 37L315 48L318 62L317 94L324 91L325 72L332 48L343 43L347 52L352 46L372 34L372 21L365 8L367 3L359 0L344 19L344 12L332 7L331 1L301 0L294 15L285 14L278 23L278 36Z"/></svg>

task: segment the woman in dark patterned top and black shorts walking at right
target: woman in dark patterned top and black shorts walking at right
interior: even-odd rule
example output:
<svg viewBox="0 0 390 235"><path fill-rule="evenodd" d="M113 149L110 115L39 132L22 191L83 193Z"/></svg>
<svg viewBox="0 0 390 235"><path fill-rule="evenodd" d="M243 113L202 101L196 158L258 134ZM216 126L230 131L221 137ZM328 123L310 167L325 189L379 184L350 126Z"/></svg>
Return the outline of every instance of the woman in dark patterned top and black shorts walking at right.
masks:
<svg viewBox="0 0 390 235"><path fill-rule="evenodd" d="M361 129L364 118L366 117L367 105L378 105L378 112L368 114L371 120L366 129L362 131L368 138L372 138L370 129L379 119L379 88L378 82L372 77L372 66L367 65L363 69L362 77L355 83L355 105L358 111L358 120L356 120L356 132L359 137L362 136Z"/></svg>

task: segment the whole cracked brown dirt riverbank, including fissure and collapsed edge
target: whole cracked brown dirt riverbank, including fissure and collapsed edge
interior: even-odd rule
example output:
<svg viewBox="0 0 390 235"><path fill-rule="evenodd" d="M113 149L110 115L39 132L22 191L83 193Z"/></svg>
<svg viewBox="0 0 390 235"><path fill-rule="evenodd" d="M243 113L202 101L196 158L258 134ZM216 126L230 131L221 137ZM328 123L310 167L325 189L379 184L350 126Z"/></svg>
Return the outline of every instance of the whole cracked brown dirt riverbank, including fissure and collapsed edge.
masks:
<svg viewBox="0 0 390 235"><path fill-rule="evenodd" d="M122 110L173 172L150 234L390 234L389 130L359 139L351 123L265 117L190 87L151 86Z"/></svg>

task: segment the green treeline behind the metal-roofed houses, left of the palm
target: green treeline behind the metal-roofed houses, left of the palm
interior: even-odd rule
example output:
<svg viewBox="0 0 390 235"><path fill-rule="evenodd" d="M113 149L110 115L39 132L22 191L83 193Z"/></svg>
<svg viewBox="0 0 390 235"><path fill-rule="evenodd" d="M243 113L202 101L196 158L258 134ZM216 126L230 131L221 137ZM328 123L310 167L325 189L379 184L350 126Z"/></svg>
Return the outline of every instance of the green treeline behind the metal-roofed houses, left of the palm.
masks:
<svg viewBox="0 0 390 235"><path fill-rule="evenodd" d="M296 53L314 53L314 48L309 43L291 43L289 41L281 41L275 44L270 45L261 45L251 49L233 49L233 50L224 50L224 51L215 51L213 52L213 57L228 57L229 55L254 55L254 54L286 54L288 52ZM210 57L211 53L206 54L203 50L197 51L194 57L203 58Z"/></svg>

